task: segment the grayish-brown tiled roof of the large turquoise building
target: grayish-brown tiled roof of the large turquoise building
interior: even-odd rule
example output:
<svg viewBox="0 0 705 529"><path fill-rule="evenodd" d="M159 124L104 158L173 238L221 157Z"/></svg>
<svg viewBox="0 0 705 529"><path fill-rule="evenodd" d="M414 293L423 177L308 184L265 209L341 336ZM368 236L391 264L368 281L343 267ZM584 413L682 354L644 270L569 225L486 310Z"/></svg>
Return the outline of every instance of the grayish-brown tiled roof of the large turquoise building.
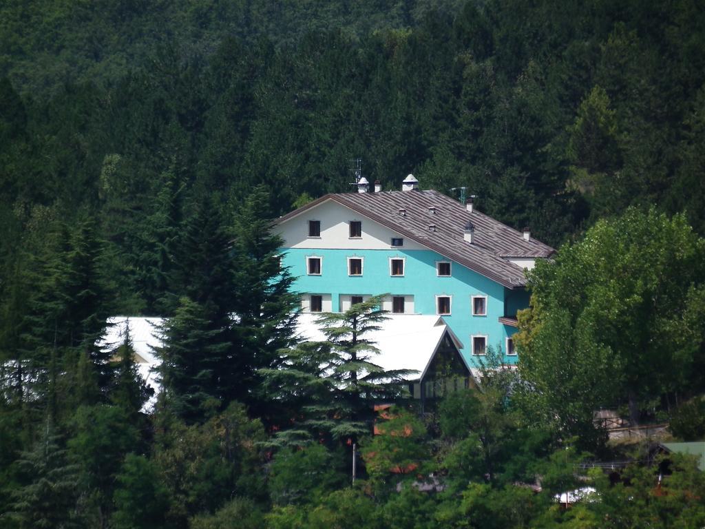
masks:
<svg viewBox="0 0 705 529"><path fill-rule="evenodd" d="M520 231L477 208L470 213L465 205L433 190L334 193L286 214L278 223L326 200L349 207L508 288L524 286L526 279L522 267L503 257L548 257L555 251L534 238L525 241ZM472 244L463 238L468 223L474 226Z"/></svg>

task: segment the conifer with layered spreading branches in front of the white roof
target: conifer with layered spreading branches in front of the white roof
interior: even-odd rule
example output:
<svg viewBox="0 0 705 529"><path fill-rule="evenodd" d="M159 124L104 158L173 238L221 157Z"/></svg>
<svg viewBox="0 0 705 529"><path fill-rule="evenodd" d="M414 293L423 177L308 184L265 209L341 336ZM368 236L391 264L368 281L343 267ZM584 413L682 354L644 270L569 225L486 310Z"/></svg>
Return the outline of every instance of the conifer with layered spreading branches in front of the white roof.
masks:
<svg viewBox="0 0 705 529"><path fill-rule="evenodd" d="M321 315L324 342L307 342L283 354L278 369L264 370L277 399L292 396L300 406L298 424L284 430L280 442L300 442L307 432L332 439L355 439L371 431L377 399L395 399L403 392L408 370L384 370L374 363L379 350L365 336L384 325L386 315L373 296L342 313Z"/></svg>

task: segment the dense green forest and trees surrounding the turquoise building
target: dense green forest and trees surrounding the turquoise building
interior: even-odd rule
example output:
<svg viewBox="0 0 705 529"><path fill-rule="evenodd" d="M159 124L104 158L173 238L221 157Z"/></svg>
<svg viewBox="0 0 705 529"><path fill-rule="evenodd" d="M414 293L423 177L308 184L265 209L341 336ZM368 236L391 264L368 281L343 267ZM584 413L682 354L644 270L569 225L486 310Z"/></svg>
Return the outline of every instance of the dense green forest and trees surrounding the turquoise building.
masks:
<svg viewBox="0 0 705 529"><path fill-rule="evenodd" d="M4 1L0 525L705 525L693 461L591 415L705 435L704 49L697 0ZM357 158L560 248L518 372L419 418L357 378L374 300L297 343L269 221ZM117 314L166 317L150 413Z"/></svg>

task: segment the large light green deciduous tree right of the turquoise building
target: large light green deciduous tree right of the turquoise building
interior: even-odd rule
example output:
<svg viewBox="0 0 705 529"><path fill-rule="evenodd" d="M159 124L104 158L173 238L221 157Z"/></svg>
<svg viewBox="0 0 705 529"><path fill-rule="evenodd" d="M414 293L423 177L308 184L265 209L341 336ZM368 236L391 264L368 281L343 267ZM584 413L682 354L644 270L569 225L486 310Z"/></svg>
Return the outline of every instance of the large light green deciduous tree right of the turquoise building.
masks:
<svg viewBox="0 0 705 529"><path fill-rule="evenodd" d="M696 391L703 362L705 240L654 209L599 221L537 263L517 345L529 402L565 432L586 434L601 406L632 422L654 399Z"/></svg>

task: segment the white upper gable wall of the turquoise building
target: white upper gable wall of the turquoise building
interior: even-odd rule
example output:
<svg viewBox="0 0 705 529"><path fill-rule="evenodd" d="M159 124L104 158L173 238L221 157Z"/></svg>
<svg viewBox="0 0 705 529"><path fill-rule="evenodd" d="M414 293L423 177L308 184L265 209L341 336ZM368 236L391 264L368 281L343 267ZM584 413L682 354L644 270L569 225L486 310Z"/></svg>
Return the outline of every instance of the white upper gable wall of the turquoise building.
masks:
<svg viewBox="0 0 705 529"><path fill-rule="evenodd" d="M398 214L398 212L390 213ZM309 238L309 220L321 222L320 237ZM362 237L349 237L348 221L362 222ZM352 209L341 206L333 200L326 200L326 202L307 209L293 219L289 219L284 224L279 224L274 228L274 233L283 238L284 248L389 250L392 248L391 239L402 237L395 231L353 212ZM425 246L415 243L409 238L403 237L403 239L404 245L400 248L404 250L427 250Z"/></svg>

